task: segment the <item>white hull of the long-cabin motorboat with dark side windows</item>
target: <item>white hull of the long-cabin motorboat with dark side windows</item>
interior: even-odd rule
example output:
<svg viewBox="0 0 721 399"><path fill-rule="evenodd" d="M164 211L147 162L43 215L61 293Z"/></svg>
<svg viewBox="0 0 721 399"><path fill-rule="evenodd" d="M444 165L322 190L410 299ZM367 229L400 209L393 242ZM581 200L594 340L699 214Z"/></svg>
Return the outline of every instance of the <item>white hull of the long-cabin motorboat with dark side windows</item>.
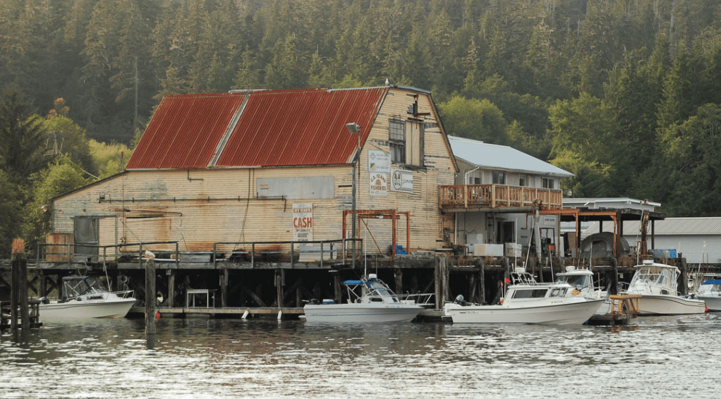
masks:
<svg viewBox="0 0 721 399"><path fill-rule="evenodd" d="M508 308L504 305L447 307L454 323L503 324L583 324L603 302L585 300L557 305Z"/></svg>

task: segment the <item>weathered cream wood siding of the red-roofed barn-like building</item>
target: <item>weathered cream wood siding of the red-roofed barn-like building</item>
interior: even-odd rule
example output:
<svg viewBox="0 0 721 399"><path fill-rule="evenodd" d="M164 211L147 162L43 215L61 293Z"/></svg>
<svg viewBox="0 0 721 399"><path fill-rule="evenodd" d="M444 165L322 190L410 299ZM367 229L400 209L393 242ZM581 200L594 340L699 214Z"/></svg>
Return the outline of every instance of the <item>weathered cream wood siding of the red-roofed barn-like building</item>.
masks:
<svg viewBox="0 0 721 399"><path fill-rule="evenodd" d="M371 129L361 153L357 209L411 212L411 248L433 249L443 246L444 229L454 237L453 215L438 211L438 185L453 184L455 173L440 127L425 130L425 167L413 171L412 194L389 191L387 197L371 197L369 193L368 149L389 151L388 120L393 115L406 119L406 110L414 100L405 95L407 92L391 90ZM418 100L419 112L433 112L430 97L420 94ZM438 122L435 115L425 119ZM258 197L258 179L309 176L332 176L332 198ZM57 198L53 202L53 232L73 233L74 217L97 216L101 218L100 245L179 241L181 251L199 251L212 249L216 242L292 241L296 202L313 205L314 240L340 239L342 211L351 208L351 192L352 165L126 171ZM101 193L105 196L102 200ZM373 220L369 225L377 244L366 233L368 251L387 251L390 220ZM403 246L405 231L405 219L401 218L397 240Z"/></svg>

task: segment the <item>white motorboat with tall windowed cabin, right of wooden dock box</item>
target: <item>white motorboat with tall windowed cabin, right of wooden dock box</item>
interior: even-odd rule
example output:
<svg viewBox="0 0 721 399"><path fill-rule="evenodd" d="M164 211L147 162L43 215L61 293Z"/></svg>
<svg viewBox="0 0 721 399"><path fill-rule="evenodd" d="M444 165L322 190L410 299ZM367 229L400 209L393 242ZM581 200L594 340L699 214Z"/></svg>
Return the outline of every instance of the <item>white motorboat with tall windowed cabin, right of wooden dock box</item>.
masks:
<svg viewBox="0 0 721 399"><path fill-rule="evenodd" d="M634 266L636 272L624 294L641 295L640 315L688 315L704 313L702 300L678 295L678 267L651 260Z"/></svg>

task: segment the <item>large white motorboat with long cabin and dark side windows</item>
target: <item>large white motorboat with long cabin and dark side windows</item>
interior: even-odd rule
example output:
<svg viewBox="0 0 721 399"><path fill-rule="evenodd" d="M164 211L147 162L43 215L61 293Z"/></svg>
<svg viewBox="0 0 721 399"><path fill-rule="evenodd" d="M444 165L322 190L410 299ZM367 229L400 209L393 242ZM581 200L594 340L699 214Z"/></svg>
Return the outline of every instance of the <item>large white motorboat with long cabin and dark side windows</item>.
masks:
<svg viewBox="0 0 721 399"><path fill-rule="evenodd" d="M454 323L583 324L603 303L602 297L584 297L567 282L537 283L530 274L518 269L516 274L523 282L508 287L500 305L467 305L460 297L446 303L443 313Z"/></svg>

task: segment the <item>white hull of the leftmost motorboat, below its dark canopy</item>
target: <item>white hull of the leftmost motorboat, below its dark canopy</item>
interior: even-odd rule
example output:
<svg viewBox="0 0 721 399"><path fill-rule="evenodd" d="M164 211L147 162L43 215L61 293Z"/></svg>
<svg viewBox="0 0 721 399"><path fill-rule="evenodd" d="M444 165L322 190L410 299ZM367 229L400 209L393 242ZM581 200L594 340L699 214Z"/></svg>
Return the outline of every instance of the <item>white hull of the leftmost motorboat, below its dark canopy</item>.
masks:
<svg viewBox="0 0 721 399"><path fill-rule="evenodd" d="M133 298L118 298L41 304L40 320L123 318L135 302Z"/></svg>

